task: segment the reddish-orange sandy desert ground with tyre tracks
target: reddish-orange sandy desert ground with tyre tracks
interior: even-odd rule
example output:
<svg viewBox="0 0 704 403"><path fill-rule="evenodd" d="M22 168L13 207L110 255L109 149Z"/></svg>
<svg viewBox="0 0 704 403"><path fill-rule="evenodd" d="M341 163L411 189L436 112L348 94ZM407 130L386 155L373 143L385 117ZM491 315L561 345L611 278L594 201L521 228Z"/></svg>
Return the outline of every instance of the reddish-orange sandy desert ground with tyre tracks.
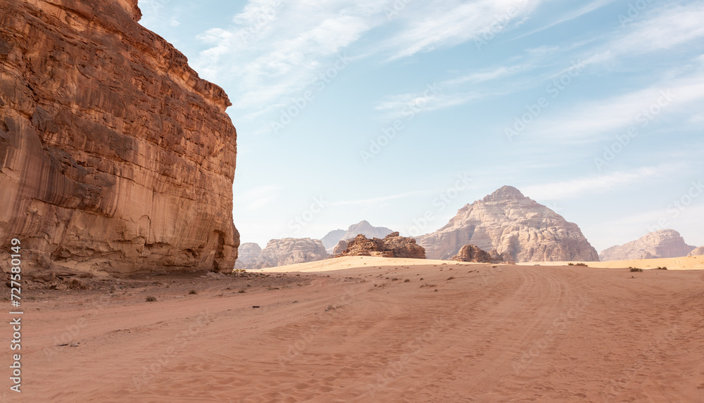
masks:
<svg viewBox="0 0 704 403"><path fill-rule="evenodd" d="M0 397L704 402L701 270L347 257L269 271L287 272L23 293L23 392Z"/></svg>

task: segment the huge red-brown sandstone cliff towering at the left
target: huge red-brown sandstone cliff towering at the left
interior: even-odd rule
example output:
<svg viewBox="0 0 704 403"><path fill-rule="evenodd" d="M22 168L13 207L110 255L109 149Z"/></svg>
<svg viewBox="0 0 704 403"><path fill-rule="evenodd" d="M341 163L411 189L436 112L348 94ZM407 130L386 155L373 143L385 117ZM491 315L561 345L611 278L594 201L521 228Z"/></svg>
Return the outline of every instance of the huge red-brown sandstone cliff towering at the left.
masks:
<svg viewBox="0 0 704 403"><path fill-rule="evenodd" d="M230 271L237 132L137 0L0 0L0 245L25 266Z"/></svg>

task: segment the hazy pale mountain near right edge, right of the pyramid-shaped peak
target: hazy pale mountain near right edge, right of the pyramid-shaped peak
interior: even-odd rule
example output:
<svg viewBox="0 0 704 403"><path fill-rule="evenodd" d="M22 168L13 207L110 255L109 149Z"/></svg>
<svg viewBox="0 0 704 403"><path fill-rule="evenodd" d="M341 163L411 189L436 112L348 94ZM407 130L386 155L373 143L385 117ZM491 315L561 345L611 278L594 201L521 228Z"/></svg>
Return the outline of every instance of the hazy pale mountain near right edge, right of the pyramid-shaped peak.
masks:
<svg viewBox="0 0 704 403"><path fill-rule="evenodd" d="M599 257L602 262L683 257L694 248L687 245L684 238L674 229L662 229L646 234L637 241L612 246L603 250Z"/></svg>

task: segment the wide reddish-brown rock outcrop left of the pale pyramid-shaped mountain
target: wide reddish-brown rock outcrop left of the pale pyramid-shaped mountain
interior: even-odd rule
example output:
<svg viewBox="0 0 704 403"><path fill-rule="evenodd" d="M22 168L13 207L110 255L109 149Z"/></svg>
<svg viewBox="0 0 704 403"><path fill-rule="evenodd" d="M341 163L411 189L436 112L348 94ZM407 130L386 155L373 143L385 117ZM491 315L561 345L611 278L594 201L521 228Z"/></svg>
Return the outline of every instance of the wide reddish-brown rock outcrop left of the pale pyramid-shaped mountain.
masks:
<svg viewBox="0 0 704 403"><path fill-rule="evenodd" d="M406 257L410 259L425 259L425 249L415 243L415 239L400 236L398 232L387 235L384 239L372 238L359 234L347 245L346 250L336 257L342 256L379 256Z"/></svg>

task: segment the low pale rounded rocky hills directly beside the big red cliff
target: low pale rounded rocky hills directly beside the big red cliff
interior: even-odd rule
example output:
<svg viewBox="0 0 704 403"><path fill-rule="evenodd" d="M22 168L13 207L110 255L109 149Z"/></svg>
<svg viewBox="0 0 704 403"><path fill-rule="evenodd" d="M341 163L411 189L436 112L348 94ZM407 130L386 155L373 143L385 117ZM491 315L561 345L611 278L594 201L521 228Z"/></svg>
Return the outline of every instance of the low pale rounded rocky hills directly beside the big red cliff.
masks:
<svg viewBox="0 0 704 403"><path fill-rule="evenodd" d="M256 243L243 243L240 245L240 257L235 269L266 269L287 264L317 262L328 256L318 239L272 239L263 250Z"/></svg>

